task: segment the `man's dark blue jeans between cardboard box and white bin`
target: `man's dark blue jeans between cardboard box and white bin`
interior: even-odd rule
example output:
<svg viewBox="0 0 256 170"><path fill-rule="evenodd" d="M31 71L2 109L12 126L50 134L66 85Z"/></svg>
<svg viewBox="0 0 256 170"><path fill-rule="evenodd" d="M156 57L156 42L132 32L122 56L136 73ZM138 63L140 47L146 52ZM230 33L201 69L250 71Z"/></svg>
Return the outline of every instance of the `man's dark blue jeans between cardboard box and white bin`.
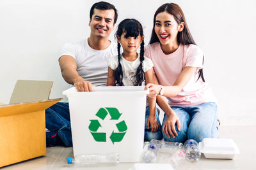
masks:
<svg viewBox="0 0 256 170"><path fill-rule="evenodd" d="M45 110L46 145L72 146L68 103L58 102Z"/></svg>

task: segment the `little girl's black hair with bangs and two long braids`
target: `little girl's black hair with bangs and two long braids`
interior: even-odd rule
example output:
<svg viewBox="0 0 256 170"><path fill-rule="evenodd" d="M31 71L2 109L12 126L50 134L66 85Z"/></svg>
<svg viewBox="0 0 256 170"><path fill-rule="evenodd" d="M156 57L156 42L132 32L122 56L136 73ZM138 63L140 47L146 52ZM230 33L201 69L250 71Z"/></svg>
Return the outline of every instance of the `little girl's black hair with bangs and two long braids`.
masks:
<svg viewBox="0 0 256 170"><path fill-rule="evenodd" d="M118 25L118 29L116 31L116 37L121 37L122 34L125 33L125 38L130 37L138 37L141 36L143 38L143 28L140 22L136 19L125 19L120 22ZM117 42L118 43L118 42ZM122 65L120 63L121 53L120 53L121 45L118 43L117 51L118 51L118 67L115 70L115 85L123 86L123 70ZM134 75L135 81L133 82L134 86L140 86L145 80L145 73L143 71L143 63L144 60L144 38L140 44L140 66L138 67L136 74Z"/></svg>

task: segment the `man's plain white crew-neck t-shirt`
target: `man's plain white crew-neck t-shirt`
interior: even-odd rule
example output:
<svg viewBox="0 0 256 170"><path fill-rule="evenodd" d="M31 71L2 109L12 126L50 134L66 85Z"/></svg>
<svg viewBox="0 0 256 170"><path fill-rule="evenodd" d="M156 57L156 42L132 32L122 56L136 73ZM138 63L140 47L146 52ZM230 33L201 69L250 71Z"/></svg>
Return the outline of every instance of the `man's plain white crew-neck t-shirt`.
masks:
<svg viewBox="0 0 256 170"><path fill-rule="evenodd" d="M94 50L88 45L87 39L63 46L61 55L74 57L77 73L94 86L106 86L108 77L108 59L117 55L117 46L111 44L105 50Z"/></svg>

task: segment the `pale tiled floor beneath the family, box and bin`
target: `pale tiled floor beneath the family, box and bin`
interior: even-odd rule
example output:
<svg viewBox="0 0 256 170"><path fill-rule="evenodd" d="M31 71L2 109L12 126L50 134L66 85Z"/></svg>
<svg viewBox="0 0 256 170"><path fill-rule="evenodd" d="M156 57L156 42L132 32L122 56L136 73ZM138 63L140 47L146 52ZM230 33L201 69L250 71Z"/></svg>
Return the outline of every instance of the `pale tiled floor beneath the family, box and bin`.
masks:
<svg viewBox="0 0 256 170"><path fill-rule="evenodd" d="M232 138L239 147L240 154L234 160L205 159L197 163L182 162L177 170L192 169L256 169L256 126L221 126L220 138ZM67 164L67 157L72 156L72 148L47 148L47 155L27 160L1 169L129 169L133 164L116 164L115 166L76 167Z"/></svg>

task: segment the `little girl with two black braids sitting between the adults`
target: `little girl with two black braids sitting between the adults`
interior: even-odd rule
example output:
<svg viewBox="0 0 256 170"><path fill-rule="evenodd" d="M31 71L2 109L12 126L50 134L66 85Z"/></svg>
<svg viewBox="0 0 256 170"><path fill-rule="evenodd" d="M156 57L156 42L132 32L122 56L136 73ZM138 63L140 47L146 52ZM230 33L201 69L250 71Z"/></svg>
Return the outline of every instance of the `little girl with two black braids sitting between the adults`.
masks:
<svg viewBox="0 0 256 170"><path fill-rule="evenodd" d="M144 57L143 29L135 19L125 19L116 31L118 55L108 60L107 85L141 86L154 82L153 63ZM123 53L120 53L122 45ZM140 53L137 49L140 47ZM145 141L162 139L161 124L156 111L156 97L148 99L145 121Z"/></svg>

